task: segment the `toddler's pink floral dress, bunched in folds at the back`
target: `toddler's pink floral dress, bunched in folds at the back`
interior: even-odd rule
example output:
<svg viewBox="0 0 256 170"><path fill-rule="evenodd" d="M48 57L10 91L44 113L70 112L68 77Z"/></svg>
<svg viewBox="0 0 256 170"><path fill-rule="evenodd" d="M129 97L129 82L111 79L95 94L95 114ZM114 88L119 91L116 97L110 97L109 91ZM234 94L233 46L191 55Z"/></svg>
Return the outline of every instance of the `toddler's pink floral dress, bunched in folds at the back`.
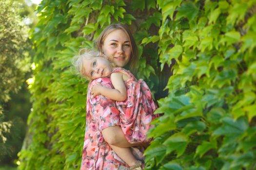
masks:
<svg viewBox="0 0 256 170"><path fill-rule="evenodd" d="M151 91L142 79L137 80L129 70L115 68L113 72L122 72L129 77L124 82L127 99L116 102L120 111L122 131L130 143L145 142L147 141L146 133L153 127L150 122L158 117L154 114L156 104L152 99Z"/></svg>

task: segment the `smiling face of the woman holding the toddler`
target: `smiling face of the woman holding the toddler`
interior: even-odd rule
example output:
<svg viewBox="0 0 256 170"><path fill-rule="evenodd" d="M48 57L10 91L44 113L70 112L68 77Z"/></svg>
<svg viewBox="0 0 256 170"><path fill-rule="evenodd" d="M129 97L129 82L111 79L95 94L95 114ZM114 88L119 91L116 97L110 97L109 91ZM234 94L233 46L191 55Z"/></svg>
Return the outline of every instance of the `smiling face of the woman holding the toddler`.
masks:
<svg viewBox="0 0 256 170"><path fill-rule="evenodd" d="M131 42L123 30L114 30L105 38L102 51L111 62L124 67L131 58Z"/></svg>

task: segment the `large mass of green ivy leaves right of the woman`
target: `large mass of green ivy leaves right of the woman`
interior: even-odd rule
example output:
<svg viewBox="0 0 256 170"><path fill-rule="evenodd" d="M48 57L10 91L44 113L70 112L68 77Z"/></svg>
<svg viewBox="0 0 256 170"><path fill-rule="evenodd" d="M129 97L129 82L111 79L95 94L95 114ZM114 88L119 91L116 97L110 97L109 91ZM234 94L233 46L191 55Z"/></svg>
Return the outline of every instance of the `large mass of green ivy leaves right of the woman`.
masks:
<svg viewBox="0 0 256 170"><path fill-rule="evenodd" d="M255 169L256 2L157 4L161 66L176 64L169 95L158 101L164 115L149 132L156 139L145 151L147 169Z"/></svg>

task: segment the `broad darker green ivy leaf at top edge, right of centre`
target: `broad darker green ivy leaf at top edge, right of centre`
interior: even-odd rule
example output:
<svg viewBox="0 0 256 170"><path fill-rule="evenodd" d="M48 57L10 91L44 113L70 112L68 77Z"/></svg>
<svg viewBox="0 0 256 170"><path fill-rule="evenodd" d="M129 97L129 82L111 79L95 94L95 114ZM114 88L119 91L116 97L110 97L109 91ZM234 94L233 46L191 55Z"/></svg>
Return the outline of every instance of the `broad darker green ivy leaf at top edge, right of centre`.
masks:
<svg viewBox="0 0 256 170"><path fill-rule="evenodd" d="M193 20L197 16L198 8L193 2L185 1L181 7L177 8L177 11L176 19L187 17L189 20Z"/></svg>

